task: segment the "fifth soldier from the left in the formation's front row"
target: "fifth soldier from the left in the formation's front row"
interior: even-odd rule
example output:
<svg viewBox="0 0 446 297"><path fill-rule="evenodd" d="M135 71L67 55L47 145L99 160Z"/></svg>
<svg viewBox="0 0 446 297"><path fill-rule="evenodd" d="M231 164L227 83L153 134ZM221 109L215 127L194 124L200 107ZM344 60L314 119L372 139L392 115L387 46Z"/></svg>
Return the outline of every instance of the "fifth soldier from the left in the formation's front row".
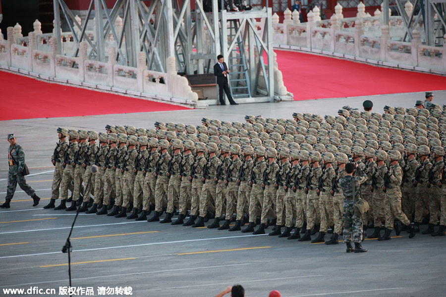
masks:
<svg viewBox="0 0 446 297"><path fill-rule="evenodd" d="M96 151L94 160L95 165L98 166L98 172L96 172L94 180L95 198L92 207L85 213L96 213L98 212L98 208L101 209L102 207L104 207L104 204L102 203L102 201L104 200L104 179L106 172L106 169L104 169L104 167L107 152L109 150L109 147L107 146L109 139L107 134L104 132L100 132L98 138L99 148ZM107 206L105 207L107 208Z"/></svg>

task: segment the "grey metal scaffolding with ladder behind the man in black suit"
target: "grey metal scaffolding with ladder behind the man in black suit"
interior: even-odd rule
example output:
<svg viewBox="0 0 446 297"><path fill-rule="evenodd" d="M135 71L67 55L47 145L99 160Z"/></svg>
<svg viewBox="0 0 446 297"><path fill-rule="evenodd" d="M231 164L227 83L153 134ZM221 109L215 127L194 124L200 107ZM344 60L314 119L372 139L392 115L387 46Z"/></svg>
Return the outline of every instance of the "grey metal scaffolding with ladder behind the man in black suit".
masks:
<svg viewBox="0 0 446 297"><path fill-rule="evenodd" d="M218 0L212 0L212 9L203 0L152 0L150 6L142 0L116 0L107 9L105 0L90 0L81 25L64 0L54 0L54 14L55 28L63 16L73 34L73 56L86 41L90 59L107 61L106 48L115 47L117 63L135 67L143 51L147 69L166 72L167 57L174 56L177 72L190 75L213 73L217 55L223 54L234 98L274 98L271 8L228 12L219 10ZM118 16L122 28L115 30ZM87 34L87 27L95 34ZM55 32L60 50L60 29Z"/></svg>

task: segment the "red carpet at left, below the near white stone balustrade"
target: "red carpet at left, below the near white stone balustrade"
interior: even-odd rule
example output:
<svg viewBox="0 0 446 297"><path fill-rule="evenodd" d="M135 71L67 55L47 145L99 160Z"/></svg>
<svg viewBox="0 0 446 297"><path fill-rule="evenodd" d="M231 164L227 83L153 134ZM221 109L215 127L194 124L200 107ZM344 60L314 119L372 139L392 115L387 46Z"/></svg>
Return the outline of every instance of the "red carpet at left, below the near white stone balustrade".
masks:
<svg viewBox="0 0 446 297"><path fill-rule="evenodd" d="M83 116L187 107L45 83L0 71L0 120Z"/></svg>

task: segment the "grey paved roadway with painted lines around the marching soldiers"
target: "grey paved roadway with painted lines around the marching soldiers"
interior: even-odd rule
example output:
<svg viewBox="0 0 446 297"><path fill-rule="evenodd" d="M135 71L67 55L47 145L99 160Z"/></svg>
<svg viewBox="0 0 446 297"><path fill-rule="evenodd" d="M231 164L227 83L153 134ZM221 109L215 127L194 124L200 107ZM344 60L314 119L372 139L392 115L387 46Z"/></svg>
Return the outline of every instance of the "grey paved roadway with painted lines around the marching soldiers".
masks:
<svg viewBox="0 0 446 297"><path fill-rule="evenodd" d="M445 91L435 95L436 103L446 103ZM423 97L424 93L413 93L367 98L373 100L374 110L382 111L386 104L410 107ZM157 120L198 124L203 116L231 121L242 121L245 114L290 118L294 111L335 114L346 104L360 108L364 99L0 122L0 195L6 191L6 134L14 132L36 174L27 180L43 198L32 207L32 200L17 189L11 208L0 210L0 295L9 296L5 288L39 286L56 289L56 295L47 296L60 296L59 286L68 286L67 254L60 250L74 213L41 208L51 196L50 156L58 126L103 131L105 124L151 127ZM268 296L275 289L284 297L443 296L446 238L417 234L408 239L405 232L400 236L389 242L366 240L363 245L369 252L354 254L345 253L342 243L326 246L81 214L72 234L71 272L73 286L94 287L95 296L99 286L130 286L137 297L205 297L235 283L242 284L250 297Z"/></svg>

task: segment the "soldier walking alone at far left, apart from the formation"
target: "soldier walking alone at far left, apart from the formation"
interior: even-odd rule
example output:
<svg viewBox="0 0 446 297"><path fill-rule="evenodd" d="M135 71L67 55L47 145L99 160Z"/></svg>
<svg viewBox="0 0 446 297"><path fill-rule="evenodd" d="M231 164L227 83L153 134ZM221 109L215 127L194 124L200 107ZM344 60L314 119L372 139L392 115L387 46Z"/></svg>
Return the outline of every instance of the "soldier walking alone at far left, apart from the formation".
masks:
<svg viewBox="0 0 446 297"><path fill-rule="evenodd" d="M25 152L20 145L17 145L16 138L13 133L8 134L8 186L6 190L5 202L0 205L0 208L9 208L12 197L14 196L15 188L17 184L20 189L25 191L26 194L33 198L33 206L39 204L40 198L36 195L36 192L31 188L25 180L22 174L25 167Z"/></svg>

